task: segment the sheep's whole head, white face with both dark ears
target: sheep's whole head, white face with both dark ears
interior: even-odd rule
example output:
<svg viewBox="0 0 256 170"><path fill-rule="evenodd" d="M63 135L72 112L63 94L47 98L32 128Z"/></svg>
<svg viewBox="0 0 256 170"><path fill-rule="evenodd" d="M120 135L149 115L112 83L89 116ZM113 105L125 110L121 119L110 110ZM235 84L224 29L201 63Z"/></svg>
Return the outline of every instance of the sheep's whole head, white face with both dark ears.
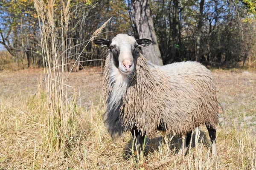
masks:
<svg viewBox="0 0 256 170"><path fill-rule="evenodd" d="M131 74L134 71L134 58L139 52L138 47L151 44L148 39L135 39L128 34L117 34L110 40L98 39L93 41L96 45L108 46L113 65L119 69L121 74Z"/></svg>

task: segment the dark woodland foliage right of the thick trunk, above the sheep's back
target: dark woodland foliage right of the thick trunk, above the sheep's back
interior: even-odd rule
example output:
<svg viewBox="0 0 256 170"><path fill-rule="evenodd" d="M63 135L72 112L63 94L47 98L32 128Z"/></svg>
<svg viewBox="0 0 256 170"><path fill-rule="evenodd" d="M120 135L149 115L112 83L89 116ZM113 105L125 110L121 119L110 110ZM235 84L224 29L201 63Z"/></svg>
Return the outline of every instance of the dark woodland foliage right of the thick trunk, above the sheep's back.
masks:
<svg viewBox="0 0 256 170"><path fill-rule="evenodd" d="M251 4L251 3L250 3ZM155 1L151 4L159 38L160 51L166 63L172 54L173 3ZM228 63L245 61L255 44L255 20L247 22L247 8L240 1L206 1L203 11L201 62ZM179 4L179 50L175 61L194 60L199 23L199 2L181 0ZM166 38L167 37L167 38ZM174 46L175 47L175 46ZM254 55L255 56L255 55ZM255 57L254 57L255 58Z"/></svg>

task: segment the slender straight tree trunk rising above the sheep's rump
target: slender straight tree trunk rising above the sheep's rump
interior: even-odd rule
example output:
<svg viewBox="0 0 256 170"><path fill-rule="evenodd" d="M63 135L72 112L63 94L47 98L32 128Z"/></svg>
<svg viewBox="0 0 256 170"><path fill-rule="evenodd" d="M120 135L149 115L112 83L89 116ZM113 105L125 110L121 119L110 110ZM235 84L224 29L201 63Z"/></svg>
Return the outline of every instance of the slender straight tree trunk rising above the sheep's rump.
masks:
<svg viewBox="0 0 256 170"><path fill-rule="evenodd" d="M196 39L196 61L200 62L200 45L201 45L201 37L202 37L202 25L203 25L203 11L204 11L204 0L200 1L200 14L198 18L198 34Z"/></svg>

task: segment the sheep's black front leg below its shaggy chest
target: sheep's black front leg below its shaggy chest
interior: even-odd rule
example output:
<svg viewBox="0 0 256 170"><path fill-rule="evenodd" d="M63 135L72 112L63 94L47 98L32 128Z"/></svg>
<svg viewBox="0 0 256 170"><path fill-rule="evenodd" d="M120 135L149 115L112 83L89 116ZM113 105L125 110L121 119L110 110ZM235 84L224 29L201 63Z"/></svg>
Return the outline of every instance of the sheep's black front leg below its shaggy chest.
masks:
<svg viewBox="0 0 256 170"><path fill-rule="evenodd" d="M141 131L137 130L137 127L134 127L131 130L131 134L134 138L134 155L136 157L136 160L138 161L140 152L143 150L143 141L145 139L145 135L142 136Z"/></svg>

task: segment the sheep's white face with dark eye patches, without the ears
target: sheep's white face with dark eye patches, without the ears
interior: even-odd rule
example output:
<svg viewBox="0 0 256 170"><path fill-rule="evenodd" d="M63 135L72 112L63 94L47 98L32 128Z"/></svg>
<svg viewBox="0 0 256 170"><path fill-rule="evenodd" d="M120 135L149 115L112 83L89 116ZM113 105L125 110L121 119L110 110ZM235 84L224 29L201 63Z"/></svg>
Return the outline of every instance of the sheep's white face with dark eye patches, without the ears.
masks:
<svg viewBox="0 0 256 170"><path fill-rule="evenodd" d="M122 74L131 74L134 70L134 56L138 52L138 43L128 34L118 34L109 45L113 63Z"/></svg>

